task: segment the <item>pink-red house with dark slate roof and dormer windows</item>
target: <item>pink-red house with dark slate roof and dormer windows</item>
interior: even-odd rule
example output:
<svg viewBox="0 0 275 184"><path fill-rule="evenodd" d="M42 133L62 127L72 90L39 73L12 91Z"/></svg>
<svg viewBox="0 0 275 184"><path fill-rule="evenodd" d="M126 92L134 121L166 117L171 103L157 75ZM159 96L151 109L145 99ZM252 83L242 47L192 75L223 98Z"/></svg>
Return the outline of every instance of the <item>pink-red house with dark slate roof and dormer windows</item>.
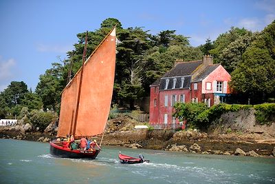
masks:
<svg viewBox="0 0 275 184"><path fill-rule="evenodd" d="M230 94L230 74L213 57L199 61L176 61L175 66L150 85L150 124L176 128L183 124L173 117L173 106L181 103L222 103Z"/></svg>

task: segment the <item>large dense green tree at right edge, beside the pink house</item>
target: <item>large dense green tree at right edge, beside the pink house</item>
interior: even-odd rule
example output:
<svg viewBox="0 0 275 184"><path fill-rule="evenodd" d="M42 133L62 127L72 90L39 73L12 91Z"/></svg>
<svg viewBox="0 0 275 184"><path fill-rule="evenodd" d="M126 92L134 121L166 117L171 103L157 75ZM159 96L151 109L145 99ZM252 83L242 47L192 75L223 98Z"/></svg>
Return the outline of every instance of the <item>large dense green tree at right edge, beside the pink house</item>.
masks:
<svg viewBox="0 0 275 184"><path fill-rule="evenodd" d="M261 103L275 93L275 21L256 36L232 72L230 85L248 94L252 103Z"/></svg>

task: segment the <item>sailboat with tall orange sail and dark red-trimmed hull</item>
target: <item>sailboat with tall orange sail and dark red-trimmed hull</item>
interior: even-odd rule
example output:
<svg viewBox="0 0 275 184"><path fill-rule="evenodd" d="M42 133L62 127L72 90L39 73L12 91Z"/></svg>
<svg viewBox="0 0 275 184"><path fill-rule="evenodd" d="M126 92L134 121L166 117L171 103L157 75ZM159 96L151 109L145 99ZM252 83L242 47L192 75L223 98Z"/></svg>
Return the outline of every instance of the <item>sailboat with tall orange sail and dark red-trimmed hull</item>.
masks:
<svg viewBox="0 0 275 184"><path fill-rule="evenodd" d="M115 77L115 27L85 60L83 66L66 85L61 96L61 112L57 139L50 141L50 153L72 159L96 159L100 150L71 150L63 146L63 138L75 139L102 135L109 116ZM87 46L87 33L85 48ZM100 141L100 145L102 140Z"/></svg>

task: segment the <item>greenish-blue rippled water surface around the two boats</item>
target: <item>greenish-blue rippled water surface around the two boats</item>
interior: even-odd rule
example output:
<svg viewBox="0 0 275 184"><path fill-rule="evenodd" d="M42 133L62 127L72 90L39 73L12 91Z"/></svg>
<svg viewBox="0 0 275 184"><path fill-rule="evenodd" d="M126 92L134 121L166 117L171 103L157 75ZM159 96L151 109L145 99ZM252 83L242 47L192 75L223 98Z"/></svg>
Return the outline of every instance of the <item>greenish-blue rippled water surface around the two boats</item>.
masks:
<svg viewBox="0 0 275 184"><path fill-rule="evenodd" d="M275 158L103 146L97 159L60 159L49 143L0 139L0 183L275 183ZM121 164L118 152L150 163Z"/></svg>

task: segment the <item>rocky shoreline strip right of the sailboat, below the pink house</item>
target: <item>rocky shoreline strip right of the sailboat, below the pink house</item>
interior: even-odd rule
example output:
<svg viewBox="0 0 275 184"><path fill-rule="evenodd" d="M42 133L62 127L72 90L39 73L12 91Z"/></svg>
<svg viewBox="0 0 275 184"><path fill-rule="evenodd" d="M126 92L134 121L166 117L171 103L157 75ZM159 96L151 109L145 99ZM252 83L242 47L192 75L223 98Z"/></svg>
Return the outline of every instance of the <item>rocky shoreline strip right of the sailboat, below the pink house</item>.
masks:
<svg viewBox="0 0 275 184"><path fill-rule="evenodd" d="M173 130L129 130L104 135L104 145L120 145L134 149L144 148L174 152L191 152L198 154L224 154L241 156L274 156L275 140L258 143L251 139L256 135L243 135L236 138L234 133L213 135L192 131L173 132ZM244 138L246 136L246 138ZM245 140L249 139L249 140Z"/></svg>

